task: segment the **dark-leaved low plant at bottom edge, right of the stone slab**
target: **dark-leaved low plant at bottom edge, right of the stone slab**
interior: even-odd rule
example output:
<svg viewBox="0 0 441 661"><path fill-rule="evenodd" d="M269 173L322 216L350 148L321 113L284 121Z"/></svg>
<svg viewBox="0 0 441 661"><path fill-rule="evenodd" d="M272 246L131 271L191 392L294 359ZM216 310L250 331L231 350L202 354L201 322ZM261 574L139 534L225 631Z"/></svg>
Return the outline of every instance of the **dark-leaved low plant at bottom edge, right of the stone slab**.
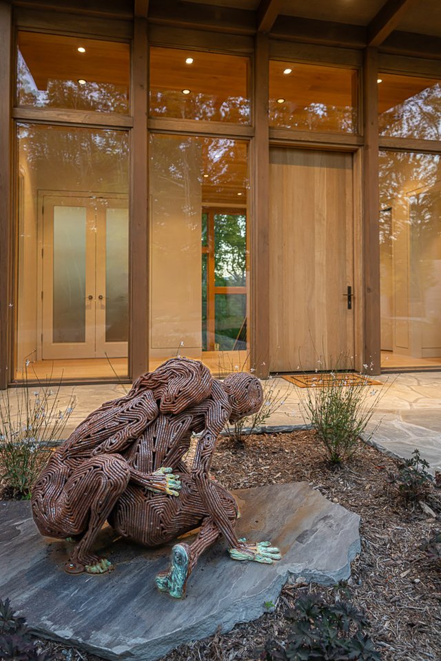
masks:
<svg viewBox="0 0 441 661"><path fill-rule="evenodd" d="M369 622L350 602L328 604L321 595L299 597L289 613L286 644L267 640L266 661L380 661L363 629Z"/></svg>

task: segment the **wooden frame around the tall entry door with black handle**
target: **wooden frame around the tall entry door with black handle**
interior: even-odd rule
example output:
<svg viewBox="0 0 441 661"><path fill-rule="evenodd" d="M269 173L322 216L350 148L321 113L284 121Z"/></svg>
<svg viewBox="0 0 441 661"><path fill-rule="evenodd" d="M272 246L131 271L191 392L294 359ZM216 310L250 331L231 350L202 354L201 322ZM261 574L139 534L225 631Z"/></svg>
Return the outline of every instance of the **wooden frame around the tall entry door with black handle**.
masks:
<svg viewBox="0 0 441 661"><path fill-rule="evenodd" d="M312 136L311 136L312 138ZM370 372L370 357L365 355L365 318L366 318L366 296L365 296L365 247L363 240L363 206L362 206L362 171L364 148L362 146L331 144L323 145L319 141L300 141L287 139L270 139L269 150L271 148L287 148L298 150L313 150L326 152L349 152L352 154L352 194L353 194L353 347L354 347L354 369L358 372L366 371L364 364L368 365L367 372ZM269 154L268 154L269 156ZM269 167L269 159L268 159ZM268 176L269 185L269 176ZM269 203L269 196L268 196ZM268 206L269 214L269 206ZM271 292L269 292L271 295ZM269 307L267 309L267 318L269 325ZM271 356L269 356L271 358Z"/></svg>

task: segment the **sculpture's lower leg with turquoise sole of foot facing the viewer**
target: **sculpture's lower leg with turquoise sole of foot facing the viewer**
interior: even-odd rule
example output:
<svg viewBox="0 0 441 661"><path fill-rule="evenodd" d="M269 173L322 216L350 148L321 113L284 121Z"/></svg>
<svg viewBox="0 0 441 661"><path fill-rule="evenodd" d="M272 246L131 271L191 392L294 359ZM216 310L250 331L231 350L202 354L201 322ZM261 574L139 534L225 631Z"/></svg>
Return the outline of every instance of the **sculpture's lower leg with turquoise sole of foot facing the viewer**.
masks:
<svg viewBox="0 0 441 661"><path fill-rule="evenodd" d="M170 568L156 576L156 586L170 596L181 598L185 595L187 580L192 573L199 556L220 537L218 527L211 517L207 517L192 545L181 542L174 545Z"/></svg>

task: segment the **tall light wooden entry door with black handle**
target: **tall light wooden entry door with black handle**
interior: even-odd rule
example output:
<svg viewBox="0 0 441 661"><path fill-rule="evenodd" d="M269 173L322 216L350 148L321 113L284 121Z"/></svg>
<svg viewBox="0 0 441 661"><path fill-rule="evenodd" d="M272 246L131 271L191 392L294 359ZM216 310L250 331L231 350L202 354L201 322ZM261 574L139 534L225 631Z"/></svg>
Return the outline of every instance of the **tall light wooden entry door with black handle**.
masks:
<svg viewBox="0 0 441 661"><path fill-rule="evenodd" d="M353 360L352 154L271 148L269 173L271 369Z"/></svg>

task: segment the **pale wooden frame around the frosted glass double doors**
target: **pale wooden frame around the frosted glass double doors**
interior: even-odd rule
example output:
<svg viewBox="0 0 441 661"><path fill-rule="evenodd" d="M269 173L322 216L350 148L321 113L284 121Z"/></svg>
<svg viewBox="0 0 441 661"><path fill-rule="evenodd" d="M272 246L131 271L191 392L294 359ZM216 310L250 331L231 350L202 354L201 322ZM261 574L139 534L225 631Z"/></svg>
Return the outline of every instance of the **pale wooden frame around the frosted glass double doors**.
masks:
<svg viewBox="0 0 441 661"><path fill-rule="evenodd" d="M94 192L94 191L65 191L65 190L47 190L39 189L37 191L37 360L43 360L43 301L41 300L41 292L43 292L43 202L45 197L52 198L63 198L63 199L92 199L96 198L110 198L121 201L127 201L127 209L129 209L129 196L125 193L111 193L111 192ZM130 218L130 210L129 210ZM129 228L130 234L130 228ZM127 246L127 250L130 250L130 247ZM130 257L129 257L129 283L130 283ZM130 316L130 305L129 305L129 316ZM130 320L129 320L130 321ZM130 327L130 323L129 323ZM128 349L130 351L130 341ZM128 352L127 352L128 353ZM48 360L56 360L55 358L49 358ZM66 358L68 360L68 358Z"/></svg>

